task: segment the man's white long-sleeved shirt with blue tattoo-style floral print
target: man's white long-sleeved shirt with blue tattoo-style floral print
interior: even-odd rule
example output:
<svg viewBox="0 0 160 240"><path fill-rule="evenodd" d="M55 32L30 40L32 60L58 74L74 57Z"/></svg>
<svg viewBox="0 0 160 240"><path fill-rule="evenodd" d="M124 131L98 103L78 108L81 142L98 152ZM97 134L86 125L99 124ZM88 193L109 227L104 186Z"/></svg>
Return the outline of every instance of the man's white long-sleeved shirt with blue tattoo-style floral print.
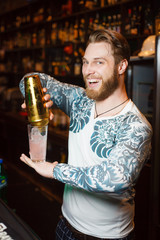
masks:
<svg viewBox="0 0 160 240"><path fill-rule="evenodd" d="M80 87L39 74L53 102L70 117L62 212L82 233L122 238L134 228L134 186L151 151L152 128L130 100L114 117L94 119L95 102ZM23 79L20 89L24 94Z"/></svg>

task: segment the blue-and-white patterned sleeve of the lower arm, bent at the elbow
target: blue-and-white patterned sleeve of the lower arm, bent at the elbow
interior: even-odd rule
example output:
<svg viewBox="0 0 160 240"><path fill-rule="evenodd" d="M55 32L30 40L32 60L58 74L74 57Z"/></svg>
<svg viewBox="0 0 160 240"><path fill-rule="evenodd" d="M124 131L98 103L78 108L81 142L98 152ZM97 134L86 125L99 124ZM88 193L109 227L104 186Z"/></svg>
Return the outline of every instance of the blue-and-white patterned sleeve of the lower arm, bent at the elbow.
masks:
<svg viewBox="0 0 160 240"><path fill-rule="evenodd" d="M134 186L150 155L151 135L151 129L133 115L130 122L122 124L116 144L101 164L90 167L58 164L54 178L90 192L123 192Z"/></svg>

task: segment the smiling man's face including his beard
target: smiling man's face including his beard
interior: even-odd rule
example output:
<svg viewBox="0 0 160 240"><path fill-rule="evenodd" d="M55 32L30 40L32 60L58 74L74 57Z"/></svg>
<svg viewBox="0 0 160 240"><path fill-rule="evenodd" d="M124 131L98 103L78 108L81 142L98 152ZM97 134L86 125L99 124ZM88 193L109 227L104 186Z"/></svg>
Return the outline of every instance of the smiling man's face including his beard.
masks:
<svg viewBox="0 0 160 240"><path fill-rule="evenodd" d="M118 87L118 70L108 43L90 43L83 57L82 73L87 96L101 101Z"/></svg>

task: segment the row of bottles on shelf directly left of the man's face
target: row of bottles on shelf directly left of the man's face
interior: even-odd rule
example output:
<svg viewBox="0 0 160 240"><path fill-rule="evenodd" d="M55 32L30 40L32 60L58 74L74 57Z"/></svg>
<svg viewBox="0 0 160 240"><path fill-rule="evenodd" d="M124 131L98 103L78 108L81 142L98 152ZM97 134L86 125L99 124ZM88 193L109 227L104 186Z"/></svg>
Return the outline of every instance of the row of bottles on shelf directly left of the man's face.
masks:
<svg viewBox="0 0 160 240"><path fill-rule="evenodd" d="M65 47L35 49L34 53L24 51L18 55L17 51L7 53L1 50L0 53L2 52L0 73L25 74L31 71L45 71L55 76L81 75L81 59L84 55L84 48L81 45L76 47L71 43ZM13 61L15 58L16 62Z"/></svg>

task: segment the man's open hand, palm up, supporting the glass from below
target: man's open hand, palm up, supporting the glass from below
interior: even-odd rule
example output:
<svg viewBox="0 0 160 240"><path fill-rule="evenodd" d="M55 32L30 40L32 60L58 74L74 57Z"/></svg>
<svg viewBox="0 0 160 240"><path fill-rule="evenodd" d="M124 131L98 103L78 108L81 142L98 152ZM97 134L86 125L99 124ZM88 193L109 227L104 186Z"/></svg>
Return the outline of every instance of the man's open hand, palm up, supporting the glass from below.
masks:
<svg viewBox="0 0 160 240"><path fill-rule="evenodd" d="M37 173L39 173L43 177L47 178L54 178L53 177L53 170L58 162L33 162L30 158L28 158L25 154L20 156L20 160L26 163L28 166L33 168Z"/></svg>

